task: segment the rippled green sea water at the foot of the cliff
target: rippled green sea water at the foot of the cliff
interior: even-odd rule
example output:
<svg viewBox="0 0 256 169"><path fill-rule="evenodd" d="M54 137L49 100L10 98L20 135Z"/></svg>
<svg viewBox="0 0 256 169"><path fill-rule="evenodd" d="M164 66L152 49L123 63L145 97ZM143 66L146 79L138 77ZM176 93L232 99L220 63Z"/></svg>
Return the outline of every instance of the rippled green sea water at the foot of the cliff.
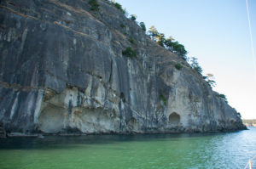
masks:
<svg viewBox="0 0 256 169"><path fill-rule="evenodd" d="M255 127L240 132L0 139L1 169L234 169L244 168L253 155Z"/></svg>

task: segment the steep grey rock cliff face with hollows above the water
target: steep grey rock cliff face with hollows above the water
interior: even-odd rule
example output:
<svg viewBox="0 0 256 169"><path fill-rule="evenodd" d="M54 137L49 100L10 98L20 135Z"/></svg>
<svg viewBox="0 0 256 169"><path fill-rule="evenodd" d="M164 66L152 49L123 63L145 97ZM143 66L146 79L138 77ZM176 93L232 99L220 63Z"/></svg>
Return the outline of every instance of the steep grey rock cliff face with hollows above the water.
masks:
<svg viewBox="0 0 256 169"><path fill-rule="evenodd" d="M98 3L99 11L91 11L87 0L0 2L0 123L7 132L244 127L183 59L113 5ZM137 57L124 56L127 47Z"/></svg>

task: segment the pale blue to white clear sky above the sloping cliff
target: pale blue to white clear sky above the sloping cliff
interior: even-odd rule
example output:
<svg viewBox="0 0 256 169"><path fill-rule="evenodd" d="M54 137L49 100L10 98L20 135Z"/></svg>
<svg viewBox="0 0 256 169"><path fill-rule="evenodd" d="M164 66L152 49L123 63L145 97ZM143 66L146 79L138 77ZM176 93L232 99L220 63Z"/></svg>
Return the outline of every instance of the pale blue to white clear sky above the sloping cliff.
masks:
<svg viewBox="0 0 256 169"><path fill-rule="evenodd" d="M198 59L203 75L211 73L242 119L256 119L256 63L246 0L116 0L148 28L183 44ZM256 0L247 0L256 52Z"/></svg>

